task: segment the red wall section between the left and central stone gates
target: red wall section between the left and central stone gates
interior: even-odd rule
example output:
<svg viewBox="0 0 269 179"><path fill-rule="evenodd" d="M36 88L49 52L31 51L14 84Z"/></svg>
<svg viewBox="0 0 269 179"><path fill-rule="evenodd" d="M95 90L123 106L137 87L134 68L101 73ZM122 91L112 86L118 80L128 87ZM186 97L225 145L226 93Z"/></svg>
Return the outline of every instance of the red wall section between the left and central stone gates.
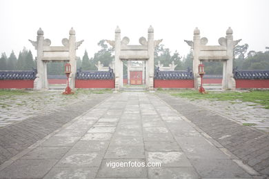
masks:
<svg viewBox="0 0 269 179"><path fill-rule="evenodd" d="M112 80L76 80L76 88L114 88Z"/></svg>

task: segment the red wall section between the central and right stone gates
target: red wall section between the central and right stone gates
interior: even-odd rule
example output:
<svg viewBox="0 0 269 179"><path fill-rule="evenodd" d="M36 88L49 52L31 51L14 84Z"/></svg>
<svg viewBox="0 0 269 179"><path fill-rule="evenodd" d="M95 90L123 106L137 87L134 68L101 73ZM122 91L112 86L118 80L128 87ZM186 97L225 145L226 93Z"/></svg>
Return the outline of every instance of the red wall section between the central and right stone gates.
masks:
<svg viewBox="0 0 269 179"><path fill-rule="evenodd" d="M162 88L193 88L194 80L154 80L154 87Z"/></svg>

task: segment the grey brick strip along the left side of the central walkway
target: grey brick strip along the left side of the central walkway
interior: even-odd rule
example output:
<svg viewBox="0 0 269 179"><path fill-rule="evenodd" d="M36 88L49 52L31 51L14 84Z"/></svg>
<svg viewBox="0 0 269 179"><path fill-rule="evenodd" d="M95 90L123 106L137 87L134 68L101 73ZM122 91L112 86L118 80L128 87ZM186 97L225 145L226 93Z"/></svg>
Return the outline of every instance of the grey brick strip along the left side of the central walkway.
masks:
<svg viewBox="0 0 269 179"><path fill-rule="evenodd" d="M48 94L52 93L49 92ZM62 96L59 92L57 92L57 94L54 93L54 96L57 95L60 96L59 98ZM0 164L36 143L38 140L41 140L52 131L59 129L59 127L62 127L73 118L88 111L88 109L94 107L94 105L97 105L109 95L110 94L85 95L86 98L79 98L80 101L77 101L77 98L74 99L74 96L68 96L68 100L66 101L72 101L72 103L65 103L65 105L60 106L57 106L58 103L52 103L49 107L43 107L43 109L46 110L54 105L54 109L51 109L50 112L37 111L34 116L30 115L29 118L24 120L20 118L19 121L12 121L13 123L10 125L1 127ZM21 96L17 96L17 98L21 98ZM20 110L20 108L17 109L17 115L21 112Z"/></svg>

